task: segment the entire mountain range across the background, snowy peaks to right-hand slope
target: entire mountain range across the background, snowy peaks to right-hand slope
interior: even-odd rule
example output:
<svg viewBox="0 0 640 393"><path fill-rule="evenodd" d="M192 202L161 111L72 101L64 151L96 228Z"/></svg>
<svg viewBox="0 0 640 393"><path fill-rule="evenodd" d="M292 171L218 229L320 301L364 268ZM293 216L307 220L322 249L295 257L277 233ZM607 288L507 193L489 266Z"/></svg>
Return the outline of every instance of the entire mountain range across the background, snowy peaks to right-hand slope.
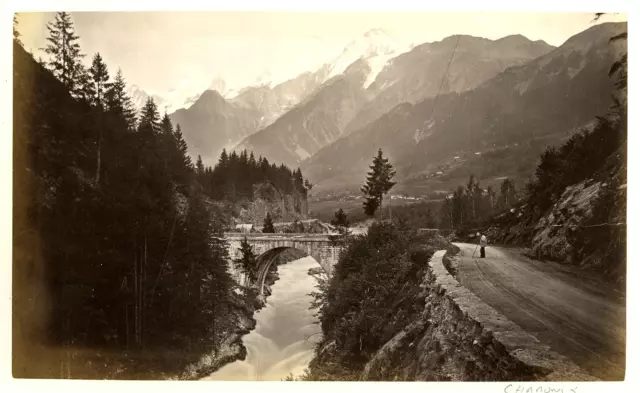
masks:
<svg viewBox="0 0 640 393"><path fill-rule="evenodd" d="M268 75L235 90L216 78L171 118L209 165L223 148L249 149L301 166L322 190L356 185L382 147L401 183L422 181L452 157L475 162L489 155L473 153L528 139L544 141L520 145L538 154L588 122L610 102L616 53L608 39L623 30L626 23L595 25L555 48L521 35L403 46L375 29L275 86Z"/></svg>

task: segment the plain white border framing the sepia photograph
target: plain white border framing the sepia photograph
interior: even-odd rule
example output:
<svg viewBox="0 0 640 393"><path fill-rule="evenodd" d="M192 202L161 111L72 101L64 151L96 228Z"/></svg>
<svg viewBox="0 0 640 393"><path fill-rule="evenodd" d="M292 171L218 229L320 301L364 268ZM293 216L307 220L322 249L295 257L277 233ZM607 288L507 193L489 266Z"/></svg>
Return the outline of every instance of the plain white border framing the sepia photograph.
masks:
<svg viewBox="0 0 640 393"><path fill-rule="evenodd" d="M0 123L2 132L0 133L0 181L2 182L2 195L0 196L0 258L2 260L0 270L0 391L4 392L109 392L115 390L124 391L153 391L159 392L230 392L244 391L245 389L259 389L262 391L284 392L325 392L327 390L353 391L354 389L367 392L388 392L402 390L403 392L466 392L469 390L477 392L505 392L505 393L529 393L529 392L617 392L617 391L637 391L637 382L640 381L638 368L638 287L635 284L638 275L638 264L634 263L640 257L640 250L633 247L635 242L629 241L627 250L627 350L626 350L626 377L623 382L359 382L356 385L338 382L269 382L257 385L253 381L247 382L183 382L183 381L85 381L85 380L28 380L14 379L11 371L11 282L12 282L12 250L11 250L11 224L12 224L12 55L10 34L11 15L14 12L36 12L36 11L307 11L307 12L394 12L394 11L451 11L451 12L484 12L484 11L510 11L510 12L619 12L632 14L631 20L635 17L634 8L640 7L632 1L607 0L607 1L559 1L559 0L537 0L535 2L505 1L505 0L458 0L455 2L433 1L411 1L411 0L369 0L369 1L345 1L345 0L322 0L319 2L302 2L292 0L271 0L268 2L259 0L235 0L222 2L197 1L197 0L103 0L87 2L80 0L10 0L4 1L1 6L2 20L2 85L0 95ZM632 22L633 24L633 22ZM629 29L632 38L629 40L631 46L636 43L635 26ZM635 48L629 51L631 64L640 64L636 60ZM629 79L630 84L636 82L635 77ZM631 89L635 92L635 88ZM631 103L635 102L633 97ZM636 124L636 116L633 110L629 111L629 121ZM631 127L632 130L635 130ZM629 133L629 151L634 147L640 148L637 136L632 131ZM637 180L638 157L634 154L628 156L629 184L628 201L638 200ZM633 202L628 203L628 238L636 239L637 220L640 218L640 209ZM634 389L635 387L635 389Z"/></svg>

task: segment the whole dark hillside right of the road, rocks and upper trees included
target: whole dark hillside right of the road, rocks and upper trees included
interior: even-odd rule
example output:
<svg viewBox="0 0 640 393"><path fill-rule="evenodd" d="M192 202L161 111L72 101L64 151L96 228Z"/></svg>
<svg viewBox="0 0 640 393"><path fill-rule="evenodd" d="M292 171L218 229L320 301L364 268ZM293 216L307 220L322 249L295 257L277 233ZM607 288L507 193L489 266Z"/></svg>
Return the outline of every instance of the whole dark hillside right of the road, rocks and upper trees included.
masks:
<svg viewBox="0 0 640 393"><path fill-rule="evenodd" d="M626 62L624 63L626 73ZM592 128L548 148L516 210L485 225L496 242L528 247L537 259L596 271L626 283L627 102L624 86Z"/></svg>

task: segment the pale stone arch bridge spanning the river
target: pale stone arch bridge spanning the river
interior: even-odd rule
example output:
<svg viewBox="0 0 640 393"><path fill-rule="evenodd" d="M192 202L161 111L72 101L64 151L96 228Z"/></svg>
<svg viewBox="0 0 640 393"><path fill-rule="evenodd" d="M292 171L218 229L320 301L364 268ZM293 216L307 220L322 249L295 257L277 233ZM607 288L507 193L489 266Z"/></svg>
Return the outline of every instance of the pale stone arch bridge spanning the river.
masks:
<svg viewBox="0 0 640 393"><path fill-rule="evenodd" d="M241 257L240 243L246 238L258 259L257 285L263 295L264 281L275 257L287 248L295 248L313 257L322 267L327 277L331 277L333 267L338 263L344 242L340 235L315 233L236 233L224 234L229 245L229 257Z"/></svg>

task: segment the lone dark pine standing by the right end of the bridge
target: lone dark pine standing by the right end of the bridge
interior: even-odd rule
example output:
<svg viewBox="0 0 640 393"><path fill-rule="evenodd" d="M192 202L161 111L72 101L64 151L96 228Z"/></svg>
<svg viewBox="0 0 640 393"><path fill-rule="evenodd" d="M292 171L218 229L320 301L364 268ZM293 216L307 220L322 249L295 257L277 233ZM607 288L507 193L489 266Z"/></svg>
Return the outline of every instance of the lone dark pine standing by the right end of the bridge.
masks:
<svg viewBox="0 0 640 393"><path fill-rule="evenodd" d="M389 160L382 156L382 149L378 149L378 155L373 158L373 164L369 168L371 170L367 173L367 181L361 191L366 198L364 212L368 216L373 216L376 210L382 207L384 194L396 184L391 180L396 172Z"/></svg>

